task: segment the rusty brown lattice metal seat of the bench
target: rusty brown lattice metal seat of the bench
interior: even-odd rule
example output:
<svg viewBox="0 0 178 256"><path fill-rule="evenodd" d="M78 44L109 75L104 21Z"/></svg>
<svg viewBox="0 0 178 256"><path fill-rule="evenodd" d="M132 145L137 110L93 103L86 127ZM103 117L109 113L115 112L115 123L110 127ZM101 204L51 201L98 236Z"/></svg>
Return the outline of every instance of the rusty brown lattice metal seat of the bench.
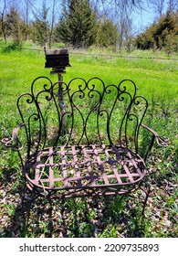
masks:
<svg viewBox="0 0 178 256"><path fill-rule="evenodd" d="M126 193L128 185L139 183L146 174L141 156L116 145L49 147L39 151L37 162L33 161L34 155L26 163L26 178L44 190L120 186L120 193Z"/></svg>

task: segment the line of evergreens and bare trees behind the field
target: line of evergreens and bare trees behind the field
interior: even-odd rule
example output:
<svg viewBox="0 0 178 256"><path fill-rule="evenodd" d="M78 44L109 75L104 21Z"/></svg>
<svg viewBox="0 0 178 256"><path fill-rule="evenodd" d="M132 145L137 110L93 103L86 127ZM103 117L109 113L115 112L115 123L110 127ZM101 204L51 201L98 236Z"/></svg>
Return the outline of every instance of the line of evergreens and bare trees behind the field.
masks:
<svg viewBox="0 0 178 256"><path fill-rule="evenodd" d="M49 48L62 42L73 48L178 49L178 1L165 5L164 0L149 0L157 18L137 35L131 12L141 10L141 0L50 0L50 5L45 0L41 5L35 0L3 1L0 37L5 42L10 37L16 45L32 40Z"/></svg>

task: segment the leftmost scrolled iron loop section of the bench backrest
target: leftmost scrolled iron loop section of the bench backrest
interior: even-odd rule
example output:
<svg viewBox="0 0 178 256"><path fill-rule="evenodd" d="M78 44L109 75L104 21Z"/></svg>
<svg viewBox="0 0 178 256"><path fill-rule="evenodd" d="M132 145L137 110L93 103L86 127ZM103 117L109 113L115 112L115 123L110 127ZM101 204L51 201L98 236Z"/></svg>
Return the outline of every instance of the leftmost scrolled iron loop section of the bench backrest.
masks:
<svg viewBox="0 0 178 256"><path fill-rule="evenodd" d="M38 80L47 80L49 85L47 85L47 82L43 84L42 91L37 88L36 90L36 83ZM47 88L48 87L48 88ZM47 126L44 119L44 115L41 112L40 108L40 101L39 97L46 93L45 100L51 101L52 100L52 94L51 94L51 88L52 88L52 81L49 80L47 77L38 77L36 80L32 82L31 86L31 93L24 93L22 94L17 102L17 109L20 113L22 123L24 123L25 131L26 131L26 148L27 148L27 157L29 157L30 154L36 153L38 149L40 148L40 145L43 144L43 148L45 148L45 144L47 141ZM26 104L26 107L25 107ZM35 126L36 129L36 137L33 136L32 130L34 129L35 123L37 124ZM43 141L42 141L42 134ZM34 152L33 152L34 148ZM41 148L40 148L41 149Z"/></svg>

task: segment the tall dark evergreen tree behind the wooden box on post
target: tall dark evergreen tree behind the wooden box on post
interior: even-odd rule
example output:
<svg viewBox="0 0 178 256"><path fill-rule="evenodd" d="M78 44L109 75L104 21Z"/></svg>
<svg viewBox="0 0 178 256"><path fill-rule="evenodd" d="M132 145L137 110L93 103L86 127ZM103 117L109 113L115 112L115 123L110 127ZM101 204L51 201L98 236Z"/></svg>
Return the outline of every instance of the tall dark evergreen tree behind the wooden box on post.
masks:
<svg viewBox="0 0 178 256"><path fill-rule="evenodd" d="M56 29L57 38L74 48L84 48L96 40L96 13L89 0L68 0Z"/></svg>

